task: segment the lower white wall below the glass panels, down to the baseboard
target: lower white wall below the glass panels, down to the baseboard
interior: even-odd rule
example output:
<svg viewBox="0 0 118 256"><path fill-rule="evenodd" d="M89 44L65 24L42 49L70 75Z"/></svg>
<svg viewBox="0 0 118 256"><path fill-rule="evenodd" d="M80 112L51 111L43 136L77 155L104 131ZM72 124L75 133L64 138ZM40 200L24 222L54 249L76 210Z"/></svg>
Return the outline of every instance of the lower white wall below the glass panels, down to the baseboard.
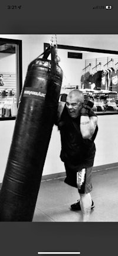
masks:
<svg viewBox="0 0 118 256"><path fill-rule="evenodd" d="M1 121L0 122L0 182L2 182L6 161L8 158L9 147L12 140L12 132L14 130L15 121ZM96 157L94 159L94 166L101 166L104 164L117 163L118 152L118 115L103 115L98 116L99 132L97 134L96 143ZM43 175L61 173L64 170L63 162L60 160L61 142L60 132L54 125L51 135L50 144L48 147L47 157L44 164Z"/></svg>

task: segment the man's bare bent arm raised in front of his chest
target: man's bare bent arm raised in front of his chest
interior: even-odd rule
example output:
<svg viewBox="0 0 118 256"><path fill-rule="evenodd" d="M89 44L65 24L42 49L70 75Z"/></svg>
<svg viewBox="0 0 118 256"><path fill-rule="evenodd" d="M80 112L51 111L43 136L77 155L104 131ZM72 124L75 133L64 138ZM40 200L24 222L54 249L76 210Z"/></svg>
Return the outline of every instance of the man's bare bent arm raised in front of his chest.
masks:
<svg viewBox="0 0 118 256"><path fill-rule="evenodd" d="M90 139L97 126L97 116L81 115L80 131L84 139Z"/></svg>

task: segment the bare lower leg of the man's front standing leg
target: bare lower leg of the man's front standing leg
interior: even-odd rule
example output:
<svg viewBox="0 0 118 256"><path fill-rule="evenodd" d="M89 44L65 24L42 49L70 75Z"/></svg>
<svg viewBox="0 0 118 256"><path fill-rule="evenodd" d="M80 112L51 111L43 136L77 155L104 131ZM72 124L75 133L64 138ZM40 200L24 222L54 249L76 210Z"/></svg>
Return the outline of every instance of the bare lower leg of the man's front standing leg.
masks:
<svg viewBox="0 0 118 256"><path fill-rule="evenodd" d="M88 222L91 212L91 195L90 193L87 194L80 194L80 206L81 212L83 213L83 222Z"/></svg>

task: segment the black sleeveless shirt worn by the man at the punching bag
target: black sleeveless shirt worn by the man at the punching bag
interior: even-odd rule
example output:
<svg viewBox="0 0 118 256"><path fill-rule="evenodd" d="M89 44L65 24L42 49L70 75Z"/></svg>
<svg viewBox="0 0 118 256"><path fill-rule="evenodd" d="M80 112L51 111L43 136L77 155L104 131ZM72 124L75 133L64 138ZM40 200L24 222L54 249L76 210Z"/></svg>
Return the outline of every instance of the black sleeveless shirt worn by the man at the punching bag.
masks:
<svg viewBox="0 0 118 256"><path fill-rule="evenodd" d="M90 111L89 116L96 116L96 114ZM81 170L81 168L93 166L96 152L94 139L98 128L91 140L83 139L80 131L80 116L71 118L66 106L61 114L58 128L61 134L61 160L76 171L78 168Z"/></svg>

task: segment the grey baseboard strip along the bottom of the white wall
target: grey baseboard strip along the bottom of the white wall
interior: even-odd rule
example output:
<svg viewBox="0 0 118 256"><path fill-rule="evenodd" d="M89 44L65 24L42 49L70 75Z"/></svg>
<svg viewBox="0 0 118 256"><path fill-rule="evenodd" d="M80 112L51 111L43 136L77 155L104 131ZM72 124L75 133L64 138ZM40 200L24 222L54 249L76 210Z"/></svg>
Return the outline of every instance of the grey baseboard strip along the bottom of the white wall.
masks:
<svg viewBox="0 0 118 256"><path fill-rule="evenodd" d="M93 172L109 170L111 168L118 168L118 163L104 164L103 166L94 166ZM65 171L63 171L62 173L53 173L53 174L43 175L41 181L44 182L45 180L60 179L61 177L62 178L65 177ZM2 186L2 183L0 183L0 188L1 186Z"/></svg>

